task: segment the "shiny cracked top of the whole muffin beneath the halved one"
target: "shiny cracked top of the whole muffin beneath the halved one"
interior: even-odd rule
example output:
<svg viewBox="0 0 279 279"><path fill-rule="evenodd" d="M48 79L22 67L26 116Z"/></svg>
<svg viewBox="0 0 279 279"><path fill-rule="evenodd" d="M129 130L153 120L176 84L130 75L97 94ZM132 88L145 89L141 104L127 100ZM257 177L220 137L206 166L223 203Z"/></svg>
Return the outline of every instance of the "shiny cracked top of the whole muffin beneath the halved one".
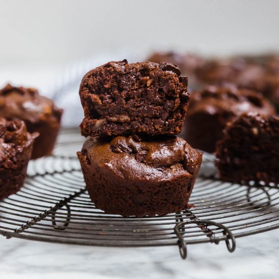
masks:
<svg viewBox="0 0 279 279"><path fill-rule="evenodd" d="M96 137L87 140L82 153L89 164L110 168L131 180L169 180L180 174L191 177L201 162L201 153L177 136Z"/></svg>

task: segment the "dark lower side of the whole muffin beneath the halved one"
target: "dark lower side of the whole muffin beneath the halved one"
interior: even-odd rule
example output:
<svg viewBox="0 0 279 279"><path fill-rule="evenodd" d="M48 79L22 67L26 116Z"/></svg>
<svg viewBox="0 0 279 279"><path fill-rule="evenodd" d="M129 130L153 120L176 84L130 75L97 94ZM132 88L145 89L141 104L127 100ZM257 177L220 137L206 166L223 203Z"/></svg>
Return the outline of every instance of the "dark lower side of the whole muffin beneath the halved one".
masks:
<svg viewBox="0 0 279 279"><path fill-rule="evenodd" d="M84 150L77 154L88 194L96 207L108 214L153 217L187 208L201 164L201 154L194 152L197 162L192 173L185 170L181 164L175 164L167 170L154 169L154 173L150 170L145 173L141 169L142 175L131 173L128 174L128 178L127 169L121 169L118 165L114 165L114 162L106 161L101 164L95 160L92 162ZM132 165L132 160L124 158L124 168L129 163ZM137 166L140 169L140 165L134 168ZM131 169L128 170L128 173L130 172Z"/></svg>

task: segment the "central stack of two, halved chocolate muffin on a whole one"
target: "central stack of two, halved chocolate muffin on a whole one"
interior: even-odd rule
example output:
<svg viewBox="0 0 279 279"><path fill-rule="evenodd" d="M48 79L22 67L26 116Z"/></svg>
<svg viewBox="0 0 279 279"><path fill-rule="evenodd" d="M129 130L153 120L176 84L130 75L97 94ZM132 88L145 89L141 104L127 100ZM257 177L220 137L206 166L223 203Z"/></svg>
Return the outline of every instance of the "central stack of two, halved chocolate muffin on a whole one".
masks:
<svg viewBox="0 0 279 279"><path fill-rule="evenodd" d="M106 213L155 216L187 208L201 154L181 132L187 78L170 63L109 62L80 86L90 138L78 152L88 193Z"/></svg>

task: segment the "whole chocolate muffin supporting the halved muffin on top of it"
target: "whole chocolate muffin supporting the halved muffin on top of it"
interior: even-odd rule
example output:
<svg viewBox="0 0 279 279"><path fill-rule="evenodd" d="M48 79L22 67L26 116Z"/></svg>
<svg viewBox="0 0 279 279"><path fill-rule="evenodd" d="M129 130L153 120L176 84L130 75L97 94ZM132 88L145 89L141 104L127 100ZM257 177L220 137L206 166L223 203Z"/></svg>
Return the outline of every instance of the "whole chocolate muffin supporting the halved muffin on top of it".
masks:
<svg viewBox="0 0 279 279"><path fill-rule="evenodd" d="M77 154L96 207L136 217L187 208L202 158L177 136L95 137Z"/></svg>

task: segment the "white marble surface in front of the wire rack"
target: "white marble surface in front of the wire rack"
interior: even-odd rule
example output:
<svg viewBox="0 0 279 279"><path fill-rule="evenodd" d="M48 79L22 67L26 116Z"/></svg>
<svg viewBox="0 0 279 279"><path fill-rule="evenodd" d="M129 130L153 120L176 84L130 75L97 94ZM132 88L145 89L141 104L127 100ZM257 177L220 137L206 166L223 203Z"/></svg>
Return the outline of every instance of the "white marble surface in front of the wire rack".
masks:
<svg viewBox="0 0 279 279"><path fill-rule="evenodd" d="M225 243L177 247L101 248L43 243L0 236L0 278L279 278L279 231Z"/></svg>

